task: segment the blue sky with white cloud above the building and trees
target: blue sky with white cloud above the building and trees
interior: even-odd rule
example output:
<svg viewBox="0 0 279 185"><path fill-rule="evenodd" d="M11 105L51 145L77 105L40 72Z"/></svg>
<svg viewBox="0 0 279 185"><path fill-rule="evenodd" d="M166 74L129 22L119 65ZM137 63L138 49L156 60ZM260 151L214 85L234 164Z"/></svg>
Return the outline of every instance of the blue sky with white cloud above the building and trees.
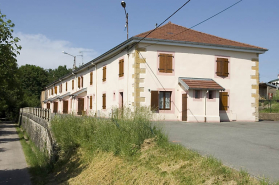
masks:
<svg viewBox="0 0 279 185"><path fill-rule="evenodd" d="M222 11L239 0L191 0L168 21L184 27ZM129 37L151 30L186 0L126 0ZM126 40L125 13L120 0L0 0L0 10L15 23L21 39L18 65L45 69L87 63ZM277 78L279 65L279 1L242 0L194 30L243 42L268 51L260 55L260 81ZM168 22L167 21L167 22ZM82 55L82 56L81 56Z"/></svg>

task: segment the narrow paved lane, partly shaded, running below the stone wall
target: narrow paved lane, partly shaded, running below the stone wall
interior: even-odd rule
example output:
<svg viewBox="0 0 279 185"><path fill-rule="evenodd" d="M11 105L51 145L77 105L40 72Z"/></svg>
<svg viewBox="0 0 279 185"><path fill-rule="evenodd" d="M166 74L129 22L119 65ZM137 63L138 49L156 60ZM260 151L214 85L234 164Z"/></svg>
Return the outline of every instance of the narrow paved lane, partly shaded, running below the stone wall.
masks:
<svg viewBox="0 0 279 185"><path fill-rule="evenodd" d="M0 185L31 184L15 124L0 122Z"/></svg>

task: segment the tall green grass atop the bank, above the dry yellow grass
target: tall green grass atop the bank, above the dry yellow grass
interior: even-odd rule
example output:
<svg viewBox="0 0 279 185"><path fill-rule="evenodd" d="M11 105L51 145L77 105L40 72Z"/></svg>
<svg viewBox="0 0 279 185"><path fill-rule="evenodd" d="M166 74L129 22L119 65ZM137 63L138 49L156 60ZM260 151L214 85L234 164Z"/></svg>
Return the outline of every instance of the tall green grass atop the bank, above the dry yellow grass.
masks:
<svg viewBox="0 0 279 185"><path fill-rule="evenodd" d="M55 117L51 128L60 146L61 156L68 156L76 148L88 151L113 152L115 155L132 156L147 138L162 136L151 124L151 113L145 107L115 109L111 119L96 117Z"/></svg>

